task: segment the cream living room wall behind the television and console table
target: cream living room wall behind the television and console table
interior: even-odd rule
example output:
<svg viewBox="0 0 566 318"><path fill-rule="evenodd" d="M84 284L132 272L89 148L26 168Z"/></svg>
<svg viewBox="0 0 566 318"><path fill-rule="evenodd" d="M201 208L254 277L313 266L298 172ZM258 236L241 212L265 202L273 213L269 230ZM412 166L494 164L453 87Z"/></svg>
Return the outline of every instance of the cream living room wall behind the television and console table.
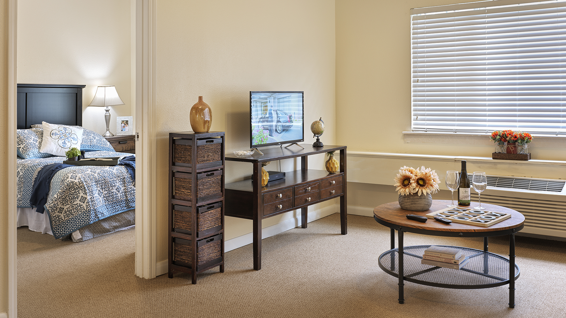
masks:
<svg viewBox="0 0 566 318"><path fill-rule="evenodd" d="M305 122L323 117L322 141L335 144L335 3L177 0L158 1L156 11L160 261L168 257L168 134L191 130L188 113L198 96L212 108L211 131L226 132L226 153L250 147L250 91L305 91ZM314 142L308 128L305 142ZM323 164L323 155L309 158L309 167L323 169ZM280 169L296 167L297 161L285 160ZM226 162L226 182L249 178L251 169L251 164ZM263 226L294 213L264 220ZM226 217L225 223L226 239L252 231L251 220Z"/></svg>

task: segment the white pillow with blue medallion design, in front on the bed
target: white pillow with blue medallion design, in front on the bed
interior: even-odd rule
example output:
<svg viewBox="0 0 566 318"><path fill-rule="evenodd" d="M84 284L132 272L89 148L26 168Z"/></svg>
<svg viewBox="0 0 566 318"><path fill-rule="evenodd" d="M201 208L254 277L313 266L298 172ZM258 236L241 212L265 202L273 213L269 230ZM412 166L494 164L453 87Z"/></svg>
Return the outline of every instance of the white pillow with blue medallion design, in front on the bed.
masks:
<svg viewBox="0 0 566 318"><path fill-rule="evenodd" d="M46 122L43 125L43 140L40 152L54 156L65 157L65 152L71 148L79 148L83 141L83 128L74 128Z"/></svg>

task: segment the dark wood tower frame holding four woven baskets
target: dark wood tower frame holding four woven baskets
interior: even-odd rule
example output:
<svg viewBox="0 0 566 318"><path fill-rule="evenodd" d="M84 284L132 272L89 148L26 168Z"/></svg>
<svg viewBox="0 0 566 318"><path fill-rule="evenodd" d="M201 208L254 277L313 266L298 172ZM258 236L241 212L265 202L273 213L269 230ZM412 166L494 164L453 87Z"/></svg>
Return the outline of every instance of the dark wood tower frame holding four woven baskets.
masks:
<svg viewBox="0 0 566 318"><path fill-rule="evenodd" d="M183 139L181 142L175 141ZM212 142L211 142L212 140ZM191 145L191 149L196 149L190 153L191 159L186 162L191 164L179 165L178 162L173 161L174 144L179 143L183 145ZM220 161L199 163L198 152L201 145L206 144L220 144ZM205 132L196 134L192 131L186 132L171 132L169 134L169 278L173 278L173 274L177 272L190 273L191 282L196 283L196 274L204 272L205 270L220 267L220 272L224 273L224 145L225 136L224 132ZM217 147L215 147L217 149ZM188 153L187 153L188 154ZM196 162L197 164L192 164ZM204 174L201 174L204 173ZM174 176L175 174L182 175L185 178L190 178L191 191L190 196L175 196L174 194ZM207 175L209 174L209 175ZM214 195L207 195L198 197L199 181L204 178L213 178L220 176L220 192ZM186 192L187 193L187 192ZM192 231L177 231L174 225L174 205L181 205L191 211L191 224L198 225L199 208L207 204L220 204L221 208L221 228L214 227L211 231L199 233L198 230ZM197 206L198 205L198 206ZM194 228L193 228L194 229ZM185 233L183 233L185 232ZM186 233L190 232L190 233ZM220 234L220 257L198 264L198 242L206 241L215 235ZM197 255L191 256L191 262L173 261L174 258L174 240L182 239L184 243L190 242L190 250L197 251Z"/></svg>

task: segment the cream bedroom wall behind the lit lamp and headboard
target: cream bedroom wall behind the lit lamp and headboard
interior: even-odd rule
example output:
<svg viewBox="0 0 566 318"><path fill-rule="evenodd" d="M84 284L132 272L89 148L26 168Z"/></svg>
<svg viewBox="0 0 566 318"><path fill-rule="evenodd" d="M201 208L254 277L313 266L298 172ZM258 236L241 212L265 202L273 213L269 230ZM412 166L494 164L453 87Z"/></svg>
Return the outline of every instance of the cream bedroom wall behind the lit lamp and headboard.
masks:
<svg viewBox="0 0 566 318"><path fill-rule="evenodd" d="M99 134L104 108L87 105L98 85L115 85L125 103L110 107L115 134L116 117L135 113L130 11L130 0L18 0L18 83L87 85L83 126Z"/></svg>

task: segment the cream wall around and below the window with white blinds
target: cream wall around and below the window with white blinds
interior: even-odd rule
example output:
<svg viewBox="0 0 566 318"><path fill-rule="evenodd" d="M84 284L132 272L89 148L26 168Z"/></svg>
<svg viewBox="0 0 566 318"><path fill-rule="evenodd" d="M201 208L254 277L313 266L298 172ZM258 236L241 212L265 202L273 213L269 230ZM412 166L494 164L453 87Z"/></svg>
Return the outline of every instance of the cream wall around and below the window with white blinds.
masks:
<svg viewBox="0 0 566 318"><path fill-rule="evenodd" d="M356 150L491 157L488 137L413 143L402 134L411 130L410 9L462 2L473 1L336 1L337 143ZM360 134L357 127L369 132ZM529 151L533 159L566 160L563 140L535 138Z"/></svg>

